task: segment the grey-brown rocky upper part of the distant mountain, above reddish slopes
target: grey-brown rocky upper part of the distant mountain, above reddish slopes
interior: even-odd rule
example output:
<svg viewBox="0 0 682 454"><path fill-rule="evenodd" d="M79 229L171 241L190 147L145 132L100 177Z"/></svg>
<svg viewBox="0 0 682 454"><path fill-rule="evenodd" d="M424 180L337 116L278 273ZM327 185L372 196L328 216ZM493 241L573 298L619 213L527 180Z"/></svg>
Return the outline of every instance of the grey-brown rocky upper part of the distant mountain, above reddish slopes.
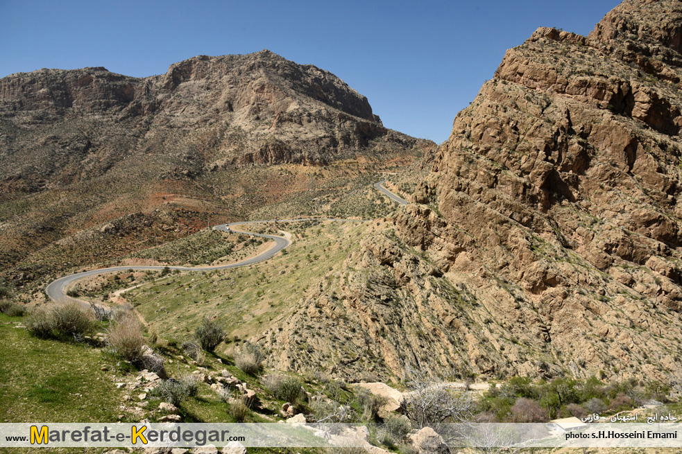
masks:
<svg viewBox="0 0 682 454"><path fill-rule="evenodd" d="M323 164L386 130L367 98L328 71L269 51L199 56L131 78L104 68L0 80L3 191L102 175L135 156L161 178L251 164Z"/></svg>

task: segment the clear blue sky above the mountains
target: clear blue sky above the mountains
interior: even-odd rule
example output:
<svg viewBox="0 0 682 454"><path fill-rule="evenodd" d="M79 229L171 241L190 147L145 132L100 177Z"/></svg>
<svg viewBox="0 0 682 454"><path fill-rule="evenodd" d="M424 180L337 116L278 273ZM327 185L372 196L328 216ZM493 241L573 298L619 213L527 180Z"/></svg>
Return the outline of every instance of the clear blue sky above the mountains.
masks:
<svg viewBox="0 0 682 454"><path fill-rule="evenodd" d="M618 3L0 0L0 77L96 66L144 77L269 49L332 71L386 127L441 143L506 49L539 26L586 35Z"/></svg>

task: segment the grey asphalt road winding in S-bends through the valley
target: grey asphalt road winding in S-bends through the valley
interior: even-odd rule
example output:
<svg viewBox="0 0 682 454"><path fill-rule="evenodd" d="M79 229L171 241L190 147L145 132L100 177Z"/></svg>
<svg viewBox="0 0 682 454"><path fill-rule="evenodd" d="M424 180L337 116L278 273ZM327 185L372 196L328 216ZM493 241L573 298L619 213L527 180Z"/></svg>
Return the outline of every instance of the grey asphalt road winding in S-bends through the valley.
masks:
<svg viewBox="0 0 682 454"><path fill-rule="evenodd" d="M395 195L391 193L388 189L384 188L382 184L386 182L386 180L382 182L378 182L375 184L375 188L378 189L379 191L382 191L385 195L387 195L391 200L394 200L395 202L398 202L399 204L407 204L407 201L398 197L398 195ZM297 218L297 219L273 219L273 220L246 220L242 222L230 222L230 224L221 224L221 225L216 225L213 227L214 230L218 230L220 232L235 232L238 234L246 234L250 236L258 236L260 238L267 238L268 240L272 240L275 242L275 245L273 247L269 248L268 250L262 252L261 254L258 254L257 256L250 257L249 259L245 259L243 261L239 261L237 263L230 263L229 265L216 265L216 266L199 266L199 267L189 267L189 266L164 266L164 265L133 265L133 266L113 266L110 268L99 268L97 270L89 270L89 271L83 271L83 272L78 272L76 274L69 274L68 276L60 277L59 279L56 279L56 281L52 281L45 287L45 293L46 295L52 299L53 301L69 301L69 302L78 302L80 304L87 304L87 306L95 306L94 303L89 303L83 301L83 299L77 299L73 297L69 297L67 295L67 287L69 284L74 283L74 281L77 281L78 279L83 279L84 277L88 276L93 276L95 274L102 274L105 272L118 272L118 271L128 271L128 270L135 270L135 271L144 271L144 270L164 270L165 268L168 268L169 270L180 270L180 271L211 271L211 270L225 270L227 268L238 268L240 266L246 266L246 265L253 265L254 263L259 263L262 261L265 261L267 259L271 259L275 254L278 254L281 250L284 249L284 247L287 247L291 244L291 241L289 241L287 238L284 238L282 236L276 236L276 235L266 235L266 234L254 234L251 232L242 232L239 230L233 229L233 227L236 227L238 225L248 225L248 224L266 224L268 222L304 222L304 221L310 221L310 220L331 220L331 221L342 221L342 222L367 222L367 220L364 219L338 219L338 218ZM96 305L100 309L104 309L103 306Z"/></svg>

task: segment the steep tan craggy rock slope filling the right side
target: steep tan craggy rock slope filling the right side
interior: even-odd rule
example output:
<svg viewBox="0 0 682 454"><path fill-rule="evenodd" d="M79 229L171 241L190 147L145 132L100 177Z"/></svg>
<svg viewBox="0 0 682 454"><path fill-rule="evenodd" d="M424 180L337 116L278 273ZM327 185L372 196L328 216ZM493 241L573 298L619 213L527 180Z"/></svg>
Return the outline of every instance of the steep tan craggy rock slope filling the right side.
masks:
<svg viewBox="0 0 682 454"><path fill-rule="evenodd" d="M331 340L275 363L675 382L681 40L680 1L626 0L587 37L510 49L412 204L272 334L315 338L301 327L323 314Z"/></svg>

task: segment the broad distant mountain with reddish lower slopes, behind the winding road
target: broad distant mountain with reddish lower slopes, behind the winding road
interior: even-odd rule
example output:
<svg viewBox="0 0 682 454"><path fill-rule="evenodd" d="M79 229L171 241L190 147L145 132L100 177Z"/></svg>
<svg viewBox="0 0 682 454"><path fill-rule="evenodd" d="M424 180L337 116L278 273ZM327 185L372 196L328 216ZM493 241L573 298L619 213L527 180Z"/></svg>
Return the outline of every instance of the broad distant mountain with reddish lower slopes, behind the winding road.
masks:
<svg viewBox="0 0 682 454"><path fill-rule="evenodd" d="M201 55L148 78L12 74L0 79L0 277L22 285L277 202L314 214L301 201L355 190L353 178L430 146L384 128L332 73L270 51ZM112 220L121 228L101 234Z"/></svg>

